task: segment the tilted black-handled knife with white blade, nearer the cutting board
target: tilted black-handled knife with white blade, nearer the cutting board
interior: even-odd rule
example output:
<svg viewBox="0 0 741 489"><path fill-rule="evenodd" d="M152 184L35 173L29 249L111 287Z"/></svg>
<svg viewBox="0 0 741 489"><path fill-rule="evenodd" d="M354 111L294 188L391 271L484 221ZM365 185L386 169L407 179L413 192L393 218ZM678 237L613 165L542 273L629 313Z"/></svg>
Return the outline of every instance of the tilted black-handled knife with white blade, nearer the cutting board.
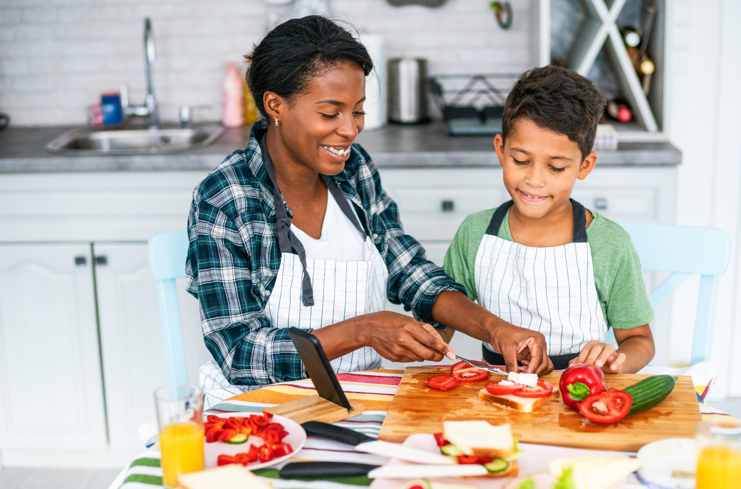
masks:
<svg viewBox="0 0 741 489"><path fill-rule="evenodd" d="M398 443L382 442L355 430L329 425L319 421L305 422L301 425L309 436L330 439L335 442L355 445L355 450L393 459L416 462L418 464L453 465L453 460L440 453L432 453L419 448L405 447Z"/></svg>

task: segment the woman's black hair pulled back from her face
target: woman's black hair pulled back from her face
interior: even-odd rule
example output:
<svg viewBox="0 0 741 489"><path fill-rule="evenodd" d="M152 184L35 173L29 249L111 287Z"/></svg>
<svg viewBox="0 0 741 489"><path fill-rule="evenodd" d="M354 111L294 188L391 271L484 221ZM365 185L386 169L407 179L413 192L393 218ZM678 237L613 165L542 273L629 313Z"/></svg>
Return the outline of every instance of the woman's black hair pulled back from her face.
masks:
<svg viewBox="0 0 741 489"><path fill-rule="evenodd" d="M290 100L303 93L322 70L343 61L357 64L366 76L373 70L373 60L365 46L348 30L322 16L285 21L271 30L245 58L250 61L247 84L265 118L268 117L262 104L265 92Z"/></svg>

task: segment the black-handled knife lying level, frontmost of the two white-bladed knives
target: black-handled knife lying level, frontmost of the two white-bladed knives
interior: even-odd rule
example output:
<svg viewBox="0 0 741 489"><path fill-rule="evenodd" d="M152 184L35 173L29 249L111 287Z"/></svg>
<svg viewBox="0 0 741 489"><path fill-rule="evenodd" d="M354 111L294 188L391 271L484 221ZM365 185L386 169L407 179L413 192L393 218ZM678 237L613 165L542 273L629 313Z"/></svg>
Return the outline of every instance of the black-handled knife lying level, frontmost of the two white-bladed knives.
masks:
<svg viewBox="0 0 741 489"><path fill-rule="evenodd" d="M483 476L483 465L368 465L353 462L290 462L279 471L283 479L368 476L370 479Z"/></svg>

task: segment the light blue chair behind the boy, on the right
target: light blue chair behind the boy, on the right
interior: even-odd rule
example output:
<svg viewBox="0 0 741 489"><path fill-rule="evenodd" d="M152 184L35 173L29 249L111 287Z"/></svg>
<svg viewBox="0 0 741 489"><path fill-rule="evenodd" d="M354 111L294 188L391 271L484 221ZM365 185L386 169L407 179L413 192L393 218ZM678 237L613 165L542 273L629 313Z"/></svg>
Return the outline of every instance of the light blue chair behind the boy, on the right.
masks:
<svg viewBox="0 0 741 489"><path fill-rule="evenodd" d="M694 274L700 274L690 365L711 357L715 305L720 276L731 259L731 241L714 227L668 224L620 224L631 235L643 270L674 272L659 284L648 300L656 309ZM608 342L616 345L612 329Z"/></svg>

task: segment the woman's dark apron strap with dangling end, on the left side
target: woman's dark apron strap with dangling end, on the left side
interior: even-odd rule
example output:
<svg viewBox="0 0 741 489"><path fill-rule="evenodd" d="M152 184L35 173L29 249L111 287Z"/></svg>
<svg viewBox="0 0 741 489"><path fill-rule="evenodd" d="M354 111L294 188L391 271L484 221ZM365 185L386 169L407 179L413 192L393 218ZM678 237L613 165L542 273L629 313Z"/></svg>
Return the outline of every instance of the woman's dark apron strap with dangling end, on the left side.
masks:
<svg viewBox="0 0 741 489"><path fill-rule="evenodd" d="M285 205L283 204L283 196L278 188L278 181L276 179L275 168L273 168L273 160L270 159L270 153L268 153L268 145L265 144L265 136L262 136L260 140L260 150L262 151L262 162L265 164L265 172L270 177L270 183L273 184L273 207L276 210L276 236L278 238L278 247L281 253L291 253L291 250L296 250L296 254L299 256L301 262L302 280L301 280L301 300L305 307L314 305L314 289L311 286L311 280L309 279L309 273L306 270L306 250L304 245L301 244L293 231L290 230L290 217L285 211Z"/></svg>

